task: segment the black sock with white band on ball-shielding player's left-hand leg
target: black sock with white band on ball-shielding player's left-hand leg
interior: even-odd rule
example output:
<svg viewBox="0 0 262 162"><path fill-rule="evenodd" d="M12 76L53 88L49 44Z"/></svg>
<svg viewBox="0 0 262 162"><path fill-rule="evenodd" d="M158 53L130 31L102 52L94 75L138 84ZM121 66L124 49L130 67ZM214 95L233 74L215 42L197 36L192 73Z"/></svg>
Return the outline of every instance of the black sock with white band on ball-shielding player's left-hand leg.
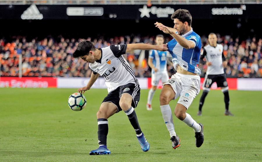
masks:
<svg viewBox="0 0 262 162"><path fill-rule="evenodd" d="M108 121L107 119L97 119L98 122L98 144L107 145Z"/></svg>

